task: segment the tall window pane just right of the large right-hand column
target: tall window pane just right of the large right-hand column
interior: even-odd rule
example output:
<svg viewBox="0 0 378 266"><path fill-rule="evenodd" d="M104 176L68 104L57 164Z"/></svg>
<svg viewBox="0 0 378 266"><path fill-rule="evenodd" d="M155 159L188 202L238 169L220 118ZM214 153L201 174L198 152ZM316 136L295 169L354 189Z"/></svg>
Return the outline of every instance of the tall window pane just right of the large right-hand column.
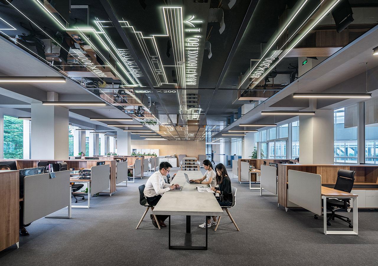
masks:
<svg viewBox="0 0 378 266"><path fill-rule="evenodd" d="M334 111L335 163L357 163L357 105Z"/></svg>

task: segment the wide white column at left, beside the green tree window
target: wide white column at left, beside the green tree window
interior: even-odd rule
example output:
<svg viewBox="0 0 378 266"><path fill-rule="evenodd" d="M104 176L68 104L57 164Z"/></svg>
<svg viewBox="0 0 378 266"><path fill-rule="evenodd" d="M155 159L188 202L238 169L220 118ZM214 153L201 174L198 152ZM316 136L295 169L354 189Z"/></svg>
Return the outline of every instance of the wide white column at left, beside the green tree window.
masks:
<svg viewBox="0 0 378 266"><path fill-rule="evenodd" d="M31 104L31 159L68 159L68 109Z"/></svg>

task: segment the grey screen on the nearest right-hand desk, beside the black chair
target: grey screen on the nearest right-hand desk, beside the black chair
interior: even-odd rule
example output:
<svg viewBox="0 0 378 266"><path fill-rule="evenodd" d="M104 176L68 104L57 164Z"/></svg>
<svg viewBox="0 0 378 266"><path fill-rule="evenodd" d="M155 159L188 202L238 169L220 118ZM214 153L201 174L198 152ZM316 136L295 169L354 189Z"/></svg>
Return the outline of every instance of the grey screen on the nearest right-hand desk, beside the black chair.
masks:
<svg viewBox="0 0 378 266"><path fill-rule="evenodd" d="M315 214L322 215L321 175L288 171L288 200Z"/></svg>

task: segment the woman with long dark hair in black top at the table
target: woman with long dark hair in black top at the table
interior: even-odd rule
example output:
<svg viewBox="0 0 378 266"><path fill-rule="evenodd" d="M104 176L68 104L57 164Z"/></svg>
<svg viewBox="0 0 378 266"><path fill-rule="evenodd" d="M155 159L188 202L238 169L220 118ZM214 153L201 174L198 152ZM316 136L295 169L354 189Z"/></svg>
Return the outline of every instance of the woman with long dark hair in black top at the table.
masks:
<svg viewBox="0 0 378 266"><path fill-rule="evenodd" d="M218 203L221 207L230 207L232 205L232 189L231 180L228 177L226 167L220 163L215 167L217 172L217 185L218 188L212 187L211 189L219 193Z"/></svg>

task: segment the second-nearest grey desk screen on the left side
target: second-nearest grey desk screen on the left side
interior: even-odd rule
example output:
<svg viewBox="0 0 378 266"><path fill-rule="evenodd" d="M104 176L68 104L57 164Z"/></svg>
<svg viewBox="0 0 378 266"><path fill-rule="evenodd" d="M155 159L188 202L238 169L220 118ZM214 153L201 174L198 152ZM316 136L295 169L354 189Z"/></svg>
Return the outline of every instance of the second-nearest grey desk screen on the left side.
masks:
<svg viewBox="0 0 378 266"><path fill-rule="evenodd" d="M110 164L91 167L91 196L109 188Z"/></svg>

